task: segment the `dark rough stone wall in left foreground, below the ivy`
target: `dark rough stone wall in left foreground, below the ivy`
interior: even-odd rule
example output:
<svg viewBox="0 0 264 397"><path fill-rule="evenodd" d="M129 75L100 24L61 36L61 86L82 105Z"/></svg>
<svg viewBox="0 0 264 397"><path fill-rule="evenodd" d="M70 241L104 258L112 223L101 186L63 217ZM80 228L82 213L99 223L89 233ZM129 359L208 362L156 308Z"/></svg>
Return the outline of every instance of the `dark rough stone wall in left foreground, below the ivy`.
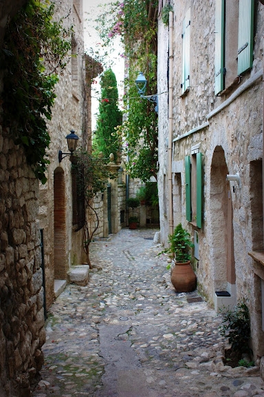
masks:
<svg viewBox="0 0 264 397"><path fill-rule="evenodd" d="M0 125L0 396L30 396L45 342L39 181Z"/></svg>

